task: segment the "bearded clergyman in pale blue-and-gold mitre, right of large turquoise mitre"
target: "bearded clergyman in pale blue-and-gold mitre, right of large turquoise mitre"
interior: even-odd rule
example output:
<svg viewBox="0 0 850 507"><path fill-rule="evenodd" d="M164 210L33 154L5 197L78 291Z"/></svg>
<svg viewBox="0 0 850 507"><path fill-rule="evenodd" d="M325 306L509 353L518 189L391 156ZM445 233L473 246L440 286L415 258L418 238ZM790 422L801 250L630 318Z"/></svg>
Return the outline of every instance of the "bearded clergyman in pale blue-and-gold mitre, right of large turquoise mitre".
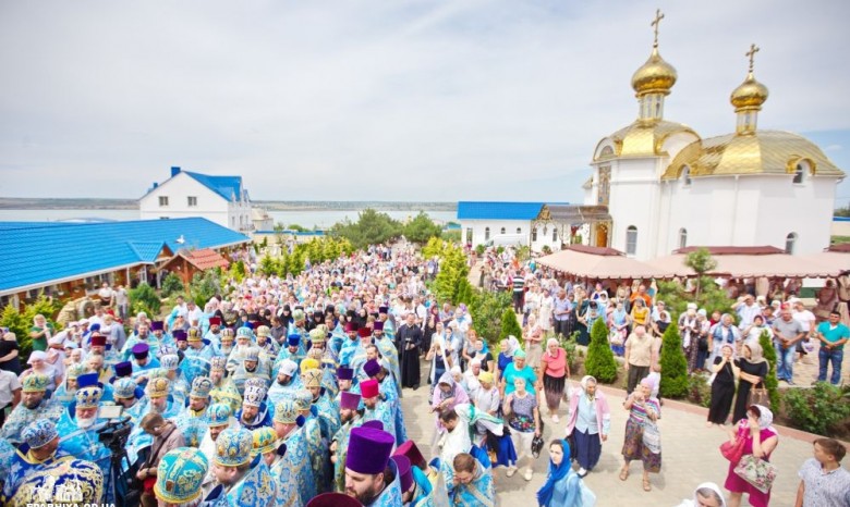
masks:
<svg viewBox="0 0 850 507"><path fill-rule="evenodd" d="M212 470L219 486L205 498L211 507L275 507L277 486L262 456L252 458L251 431L221 432L216 441Z"/></svg>

